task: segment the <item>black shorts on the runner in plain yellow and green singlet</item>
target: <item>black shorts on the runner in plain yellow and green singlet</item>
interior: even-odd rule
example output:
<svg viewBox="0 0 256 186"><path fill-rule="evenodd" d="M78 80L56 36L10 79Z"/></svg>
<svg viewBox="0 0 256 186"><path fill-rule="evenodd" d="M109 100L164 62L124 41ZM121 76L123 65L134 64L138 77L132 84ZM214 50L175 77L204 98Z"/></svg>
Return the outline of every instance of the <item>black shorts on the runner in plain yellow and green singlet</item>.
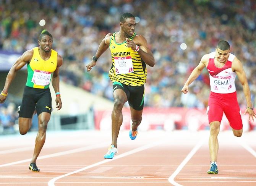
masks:
<svg viewBox="0 0 256 186"><path fill-rule="evenodd" d="M52 97L50 89L36 89L25 86L19 118L32 118L36 109L37 115L42 112L51 113Z"/></svg>

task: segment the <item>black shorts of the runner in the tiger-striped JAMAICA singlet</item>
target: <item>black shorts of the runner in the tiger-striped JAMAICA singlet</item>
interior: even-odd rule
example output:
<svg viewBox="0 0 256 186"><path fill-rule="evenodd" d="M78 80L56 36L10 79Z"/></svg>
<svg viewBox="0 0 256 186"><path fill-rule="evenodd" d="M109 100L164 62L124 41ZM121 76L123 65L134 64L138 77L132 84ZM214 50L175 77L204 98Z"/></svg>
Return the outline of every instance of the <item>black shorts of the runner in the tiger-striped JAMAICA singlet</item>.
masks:
<svg viewBox="0 0 256 186"><path fill-rule="evenodd" d="M128 86L120 82L113 82L113 91L115 89L122 89L125 91L130 107L132 107L134 110L143 110L144 85Z"/></svg>

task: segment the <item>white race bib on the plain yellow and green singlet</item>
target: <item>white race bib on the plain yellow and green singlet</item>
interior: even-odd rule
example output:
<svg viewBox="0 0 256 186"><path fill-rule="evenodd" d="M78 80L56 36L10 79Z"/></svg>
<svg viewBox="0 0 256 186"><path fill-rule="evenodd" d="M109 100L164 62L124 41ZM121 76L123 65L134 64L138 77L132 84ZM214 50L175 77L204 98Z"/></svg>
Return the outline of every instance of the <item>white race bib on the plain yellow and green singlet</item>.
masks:
<svg viewBox="0 0 256 186"><path fill-rule="evenodd" d="M34 74L32 77L32 82L36 85L47 86L50 84L52 73L41 71L41 70L34 70Z"/></svg>

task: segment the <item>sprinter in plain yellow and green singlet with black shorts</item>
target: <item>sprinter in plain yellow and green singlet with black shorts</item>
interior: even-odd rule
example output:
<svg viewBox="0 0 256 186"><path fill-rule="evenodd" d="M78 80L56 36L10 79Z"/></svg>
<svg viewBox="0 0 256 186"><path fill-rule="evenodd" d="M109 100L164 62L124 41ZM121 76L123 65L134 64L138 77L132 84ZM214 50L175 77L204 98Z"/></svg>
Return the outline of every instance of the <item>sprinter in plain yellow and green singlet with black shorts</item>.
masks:
<svg viewBox="0 0 256 186"><path fill-rule="evenodd" d="M27 50L11 67L5 81L5 86L0 94L0 103L5 102L8 88L15 78L16 71L24 65L28 68L28 79L24 88L21 108L19 110L19 133L24 135L31 127L34 111L38 115L38 133L36 145L31 159L29 170L39 171L36 159L44 146L47 124L52 111L52 97L50 95L50 81L56 93L57 110L62 108L59 88L59 67L63 60L58 53L52 49L52 35L43 30L39 36L39 47Z"/></svg>

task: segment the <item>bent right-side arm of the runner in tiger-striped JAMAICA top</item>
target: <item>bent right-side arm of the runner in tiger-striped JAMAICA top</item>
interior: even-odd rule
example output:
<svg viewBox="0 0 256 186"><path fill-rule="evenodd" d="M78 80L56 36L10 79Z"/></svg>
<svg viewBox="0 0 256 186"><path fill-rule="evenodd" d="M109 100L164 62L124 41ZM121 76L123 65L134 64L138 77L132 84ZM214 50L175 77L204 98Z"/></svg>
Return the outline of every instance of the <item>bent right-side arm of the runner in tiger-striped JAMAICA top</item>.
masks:
<svg viewBox="0 0 256 186"><path fill-rule="evenodd" d="M134 37L133 40L130 40L126 38L127 47L131 47L131 49L136 50L136 45L139 46L139 55L143 59L143 61L149 65L154 66L155 65L155 58L153 56L153 53L151 50L149 50L147 46L147 40L145 37L141 35L137 35Z"/></svg>

